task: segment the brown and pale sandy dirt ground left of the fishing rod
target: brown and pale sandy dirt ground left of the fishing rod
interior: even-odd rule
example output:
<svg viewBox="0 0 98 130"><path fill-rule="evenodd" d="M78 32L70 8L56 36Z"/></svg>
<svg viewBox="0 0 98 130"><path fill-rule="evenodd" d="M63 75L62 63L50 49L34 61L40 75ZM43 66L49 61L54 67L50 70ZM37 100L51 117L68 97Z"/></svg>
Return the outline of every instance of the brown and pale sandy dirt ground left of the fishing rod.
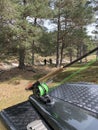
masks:
<svg viewBox="0 0 98 130"><path fill-rule="evenodd" d="M25 90L29 82L54 70L50 66L27 66L24 70L16 66L0 64L0 110L28 99L32 92Z"/></svg>

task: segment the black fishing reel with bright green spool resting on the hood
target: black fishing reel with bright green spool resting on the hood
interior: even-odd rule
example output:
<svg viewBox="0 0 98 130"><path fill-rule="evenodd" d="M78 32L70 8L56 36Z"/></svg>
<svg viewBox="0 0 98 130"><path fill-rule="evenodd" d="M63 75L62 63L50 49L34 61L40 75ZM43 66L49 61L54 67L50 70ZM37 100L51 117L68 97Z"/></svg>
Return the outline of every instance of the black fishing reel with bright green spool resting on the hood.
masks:
<svg viewBox="0 0 98 130"><path fill-rule="evenodd" d="M40 83L39 81L35 82L34 84L31 84L31 86L28 86L28 90L33 91L33 95L43 101L44 103L50 103L51 98L48 95L49 88L46 85L46 83Z"/></svg>

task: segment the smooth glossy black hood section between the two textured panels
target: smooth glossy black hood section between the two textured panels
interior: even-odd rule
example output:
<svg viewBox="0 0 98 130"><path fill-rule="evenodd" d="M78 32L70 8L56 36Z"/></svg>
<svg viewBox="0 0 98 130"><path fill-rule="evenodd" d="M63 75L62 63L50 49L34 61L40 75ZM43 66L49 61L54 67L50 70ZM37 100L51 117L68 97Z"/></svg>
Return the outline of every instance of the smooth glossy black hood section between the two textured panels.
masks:
<svg viewBox="0 0 98 130"><path fill-rule="evenodd" d="M52 105L30 96L30 102L54 130L98 130L98 119L77 106L57 98Z"/></svg>

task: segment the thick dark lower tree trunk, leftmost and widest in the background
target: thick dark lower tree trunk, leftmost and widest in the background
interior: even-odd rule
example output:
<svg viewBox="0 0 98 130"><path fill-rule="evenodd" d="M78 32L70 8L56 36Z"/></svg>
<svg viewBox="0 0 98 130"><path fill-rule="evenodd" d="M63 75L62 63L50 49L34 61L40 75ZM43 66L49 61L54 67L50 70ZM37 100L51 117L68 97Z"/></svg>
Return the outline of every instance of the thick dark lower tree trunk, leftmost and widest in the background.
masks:
<svg viewBox="0 0 98 130"><path fill-rule="evenodd" d="M25 67L24 60L25 60L25 49L20 48L19 49L19 69L24 69Z"/></svg>

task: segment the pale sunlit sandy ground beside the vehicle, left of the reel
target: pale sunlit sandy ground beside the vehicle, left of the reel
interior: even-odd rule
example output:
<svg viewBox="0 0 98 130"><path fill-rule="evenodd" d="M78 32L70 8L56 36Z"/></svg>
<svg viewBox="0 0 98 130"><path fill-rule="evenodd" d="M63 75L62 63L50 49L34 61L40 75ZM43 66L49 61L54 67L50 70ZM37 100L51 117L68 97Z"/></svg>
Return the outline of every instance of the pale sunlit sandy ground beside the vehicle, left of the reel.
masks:
<svg viewBox="0 0 98 130"><path fill-rule="evenodd" d="M0 110L28 99L32 92L27 92L25 87L28 81L21 80L19 84L0 83Z"/></svg>

